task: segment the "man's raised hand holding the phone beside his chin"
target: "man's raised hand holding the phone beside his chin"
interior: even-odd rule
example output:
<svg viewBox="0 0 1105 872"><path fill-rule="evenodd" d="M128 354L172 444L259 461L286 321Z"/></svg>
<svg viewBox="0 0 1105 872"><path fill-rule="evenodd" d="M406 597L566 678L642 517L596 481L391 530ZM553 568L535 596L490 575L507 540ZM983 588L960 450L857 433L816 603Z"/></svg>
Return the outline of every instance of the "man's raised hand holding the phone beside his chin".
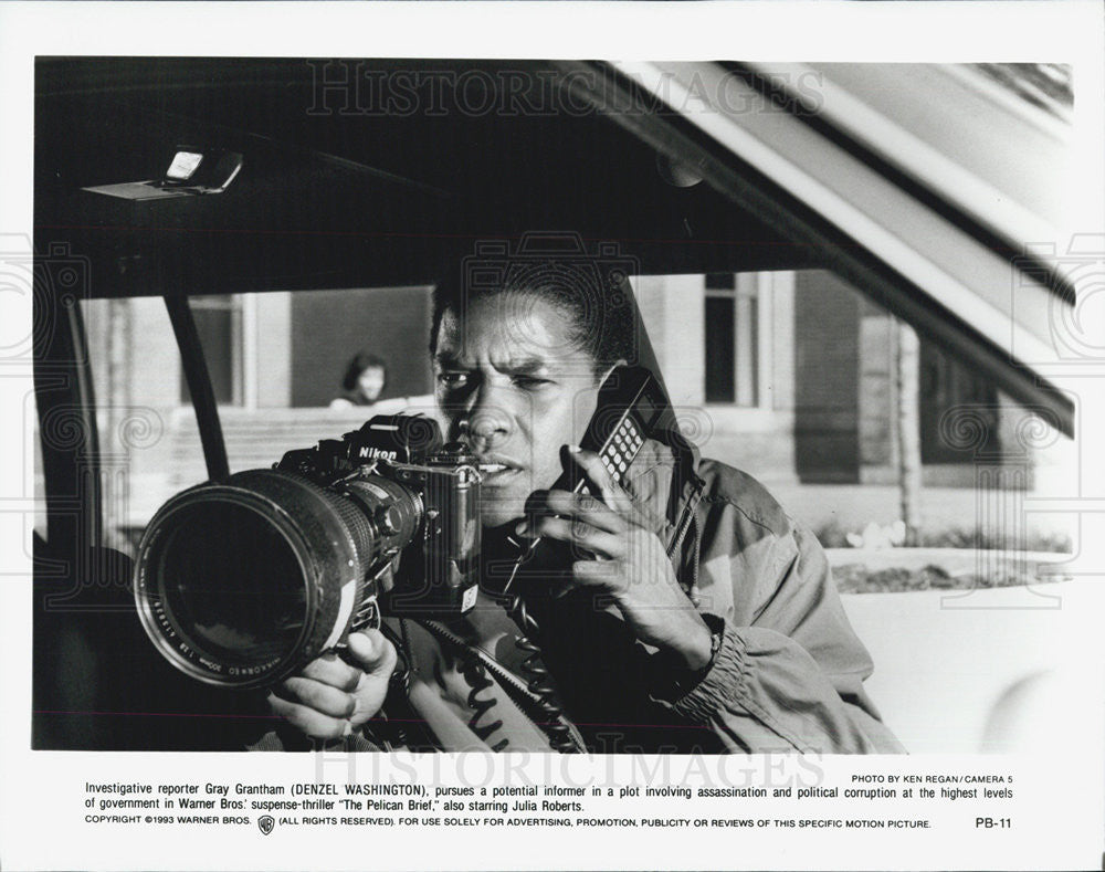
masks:
<svg viewBox="0 0 1105 872"><path fill-rule="evenodd" d="M594 555L572 564L582 586L608 592L636 638L675 654L686 669L709 663L711 630L675 579L660 537L643 526L632 500L613 482L599 455L569 449L587 473L593 496L568 491L538 494L536 519L523 535L548 536L577 553Z"/></svg>

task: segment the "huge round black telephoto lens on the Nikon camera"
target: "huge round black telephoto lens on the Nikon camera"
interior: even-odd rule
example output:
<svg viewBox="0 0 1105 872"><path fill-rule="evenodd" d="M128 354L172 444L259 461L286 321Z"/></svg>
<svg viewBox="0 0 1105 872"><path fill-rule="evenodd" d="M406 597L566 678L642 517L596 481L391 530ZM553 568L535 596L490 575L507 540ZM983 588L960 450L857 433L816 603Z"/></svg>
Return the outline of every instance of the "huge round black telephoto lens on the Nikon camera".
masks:
<svg viewBox="0 0 1105 872"><path fill-rule="evenodd" d="M283 681L379 626L373 572L411 542L421 495L370 475L319 486L249 470L173 496L138 546L147 634L182 672L224 687Z"/></svg>

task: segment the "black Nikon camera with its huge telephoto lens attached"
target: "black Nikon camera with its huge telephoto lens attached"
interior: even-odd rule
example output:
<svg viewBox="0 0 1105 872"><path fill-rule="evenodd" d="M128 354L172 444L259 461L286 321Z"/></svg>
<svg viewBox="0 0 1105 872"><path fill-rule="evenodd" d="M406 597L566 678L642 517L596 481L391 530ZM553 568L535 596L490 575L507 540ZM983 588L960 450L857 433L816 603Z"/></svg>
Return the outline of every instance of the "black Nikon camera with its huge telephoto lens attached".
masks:
<svg viewBox="0 0 1105 872"><path fill-rule="evenodd" d="M341 648L383 614L438 618L475 605L481 475L421 416L377 416L182 491L138 545L143 626L177 669L264 687Z"/></svg>

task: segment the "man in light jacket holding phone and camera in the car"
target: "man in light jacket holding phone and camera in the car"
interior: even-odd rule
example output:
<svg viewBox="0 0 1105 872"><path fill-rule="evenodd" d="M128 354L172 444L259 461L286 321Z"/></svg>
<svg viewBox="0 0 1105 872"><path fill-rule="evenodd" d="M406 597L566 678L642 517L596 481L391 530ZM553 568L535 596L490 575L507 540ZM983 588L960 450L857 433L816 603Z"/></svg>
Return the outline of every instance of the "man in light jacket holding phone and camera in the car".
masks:
<svg viewBox="0 0 1105 872"><path fill-rule="evenodd" d="M560 547L548 584L517 591L539 619L523 634L482 593L448 626L404 621L406 694L389 683L394 645L356 634L357 665L316 660L273 712L365 748L382 744L387 700L449 750L901 750L864 694L872 664L820 545L758 483L650 440L619 485L578 449L602 379L640 349L631 307L597 311L554 267L439 287L431 336L450 437L498 469L481 507L487 587L512 538ZM592 495L547 490L566 469Z"/></svg>

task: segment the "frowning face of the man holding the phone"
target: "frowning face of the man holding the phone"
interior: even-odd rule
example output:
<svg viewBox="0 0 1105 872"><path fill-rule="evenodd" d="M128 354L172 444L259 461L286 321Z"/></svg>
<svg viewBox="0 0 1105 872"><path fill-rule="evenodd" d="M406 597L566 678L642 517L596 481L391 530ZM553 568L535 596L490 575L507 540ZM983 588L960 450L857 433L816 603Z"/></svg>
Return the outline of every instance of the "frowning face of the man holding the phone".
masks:
<svg viewBox="0 0 1105 872"><path fill-rule="evenodd" d="M594 413L593 360L568 336L568 316L529 294L483 297L441 319L433 367L449 438L507 467L484 476L485 527L523 516Z"/></svg>

